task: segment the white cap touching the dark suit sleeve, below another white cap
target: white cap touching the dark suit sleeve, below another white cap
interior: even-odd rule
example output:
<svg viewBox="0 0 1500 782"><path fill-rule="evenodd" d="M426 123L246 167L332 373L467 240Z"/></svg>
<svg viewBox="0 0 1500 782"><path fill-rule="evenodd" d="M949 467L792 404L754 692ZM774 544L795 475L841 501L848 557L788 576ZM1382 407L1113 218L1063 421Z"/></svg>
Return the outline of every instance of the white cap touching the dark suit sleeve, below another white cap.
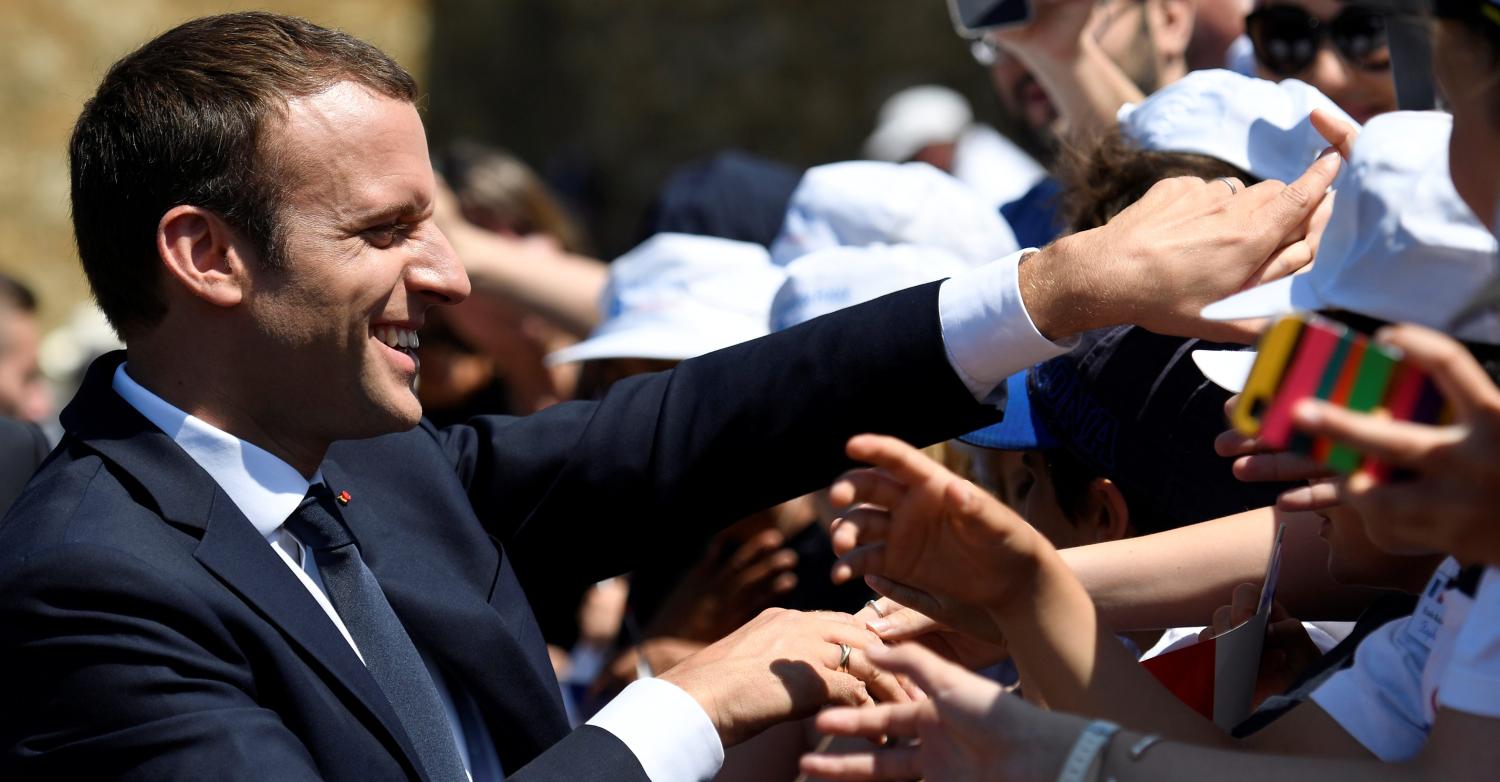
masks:
<svg viewBox="0 0 1500 782"><path fill-rule="evenodd" d="M950 278L968 267L948 251L915 245L820 249L786 267L786 282L771 300L771 330L790 329L836 309Z"/></svg>

